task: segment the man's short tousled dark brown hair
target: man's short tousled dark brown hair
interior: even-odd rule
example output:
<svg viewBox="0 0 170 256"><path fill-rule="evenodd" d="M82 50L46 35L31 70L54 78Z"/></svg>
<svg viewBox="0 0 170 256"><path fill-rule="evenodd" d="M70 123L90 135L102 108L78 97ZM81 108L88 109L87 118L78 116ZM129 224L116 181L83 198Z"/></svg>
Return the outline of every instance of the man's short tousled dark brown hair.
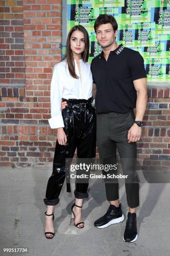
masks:
<svg viewBox="0 0 170 256"><path fill-rule="evenodd" d="M94 30L96 33L96 29L98 26L102 25L102 24L106 24L106 23L110 23L112 24L113 27L113 31L115 32L117 30L117 21L115 20L115 18L112 15L107 15L107 14L100 14L97 19L95 20L95 24L94 24Z"/></svg>

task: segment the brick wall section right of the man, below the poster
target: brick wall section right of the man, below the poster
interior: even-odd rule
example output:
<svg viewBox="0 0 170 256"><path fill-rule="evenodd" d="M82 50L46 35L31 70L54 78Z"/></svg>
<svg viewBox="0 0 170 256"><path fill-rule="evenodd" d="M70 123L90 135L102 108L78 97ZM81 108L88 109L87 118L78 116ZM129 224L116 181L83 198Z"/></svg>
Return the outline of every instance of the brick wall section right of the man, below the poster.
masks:
<svg viewBox="0 0 170 256"><path fill-rule="evenodd" d="M146 165L145 170L169 170L170 88L148 88L144 120L142 138L138 143L138 160Z"/></svg>

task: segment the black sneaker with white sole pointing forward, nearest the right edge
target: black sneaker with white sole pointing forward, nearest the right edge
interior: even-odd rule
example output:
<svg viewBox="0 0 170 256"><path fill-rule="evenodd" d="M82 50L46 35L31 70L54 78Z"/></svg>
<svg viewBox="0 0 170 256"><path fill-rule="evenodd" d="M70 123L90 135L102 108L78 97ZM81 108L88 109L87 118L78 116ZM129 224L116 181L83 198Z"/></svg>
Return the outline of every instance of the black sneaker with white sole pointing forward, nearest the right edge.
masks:
<svg viewBox="0 0 170 256"><path fill-rule="evenodd" d="M128 212L128 219L126 222L123 241L135 242L137 239L138 239L138 233L137 233L136 213Z"/></svg>

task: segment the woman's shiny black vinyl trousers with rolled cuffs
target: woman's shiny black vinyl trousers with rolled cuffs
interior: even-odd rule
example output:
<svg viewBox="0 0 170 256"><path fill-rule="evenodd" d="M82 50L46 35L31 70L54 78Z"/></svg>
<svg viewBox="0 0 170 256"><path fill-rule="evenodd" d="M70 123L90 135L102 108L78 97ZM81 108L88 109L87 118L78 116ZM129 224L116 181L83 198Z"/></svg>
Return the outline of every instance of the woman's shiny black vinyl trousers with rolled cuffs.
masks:
<svg viewBox="0 0 170 256"><path fill-rule="evenodd" d="M88 100L63 99L67 101L67 107L62 110L62 118L67 136L67 145L63 146L56 141L53 160L52 175L48 180L44 202L46 205L57 205L62 185L65 181L65 161L71 162L75 149L77 158L84 159L92 164L96 154L96 114L92 107L92 97ZM83 170L82 172L85 172ZM77 171L80 174L79 171ZM67 179L68 181L68 179ZM88 179L83 183L76 179L74 195L78 199L87 198ZM70 190L70 182L67 182L67 192Z"/></svg>

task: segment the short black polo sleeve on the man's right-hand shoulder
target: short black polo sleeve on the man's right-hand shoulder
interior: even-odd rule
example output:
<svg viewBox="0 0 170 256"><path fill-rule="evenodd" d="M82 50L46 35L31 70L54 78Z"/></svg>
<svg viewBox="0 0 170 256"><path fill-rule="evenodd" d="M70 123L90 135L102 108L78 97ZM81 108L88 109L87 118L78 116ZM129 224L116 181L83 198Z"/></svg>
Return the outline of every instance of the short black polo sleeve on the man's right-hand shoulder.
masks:
<svg viewBox="0 0 170 256"><path fill-rule="evenodd" d="M138 51L136 51L136 53L133 54L133 57L130 58L130 74L133 81L147 77L143 56L141 56Z"/></svg>

